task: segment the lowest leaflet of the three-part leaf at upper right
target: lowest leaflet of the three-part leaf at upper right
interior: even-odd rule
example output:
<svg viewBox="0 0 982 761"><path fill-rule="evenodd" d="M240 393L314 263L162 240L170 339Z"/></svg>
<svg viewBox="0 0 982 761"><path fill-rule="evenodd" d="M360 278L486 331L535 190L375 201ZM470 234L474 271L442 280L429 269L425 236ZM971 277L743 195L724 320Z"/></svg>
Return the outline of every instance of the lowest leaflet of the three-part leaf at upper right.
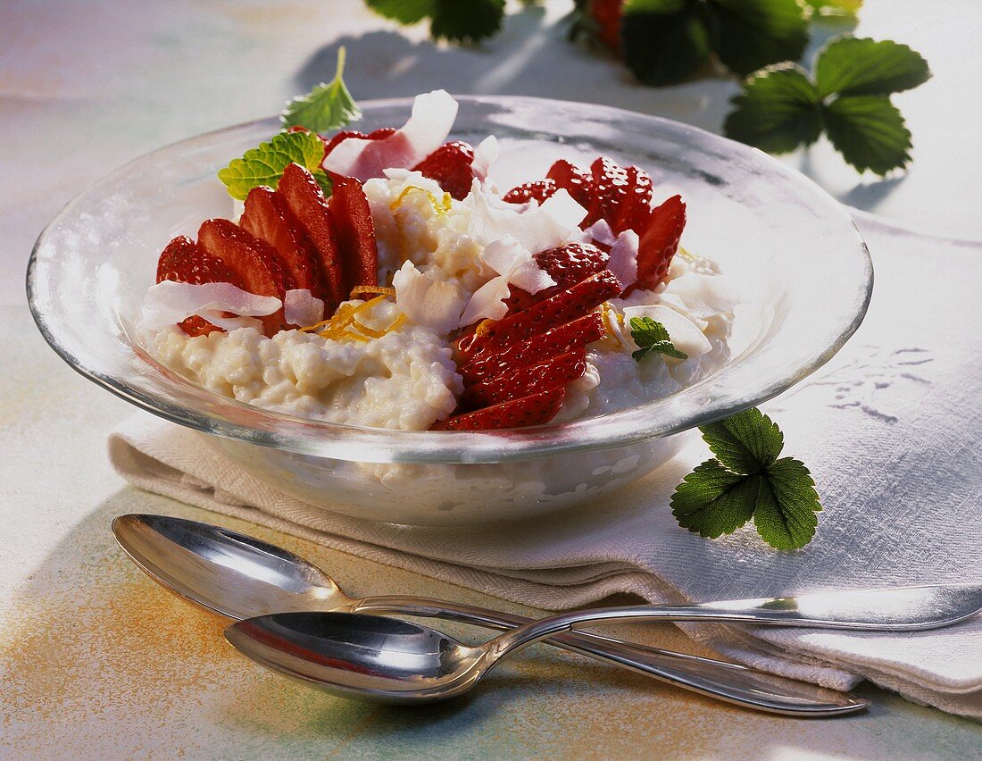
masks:
<svg viewBox="0 0 982 761"><path fill-rule="evenodd" d="M910 131L886 95L840 97L822 116L832 144L857 171L882 176L910 161Z"/></svg>

